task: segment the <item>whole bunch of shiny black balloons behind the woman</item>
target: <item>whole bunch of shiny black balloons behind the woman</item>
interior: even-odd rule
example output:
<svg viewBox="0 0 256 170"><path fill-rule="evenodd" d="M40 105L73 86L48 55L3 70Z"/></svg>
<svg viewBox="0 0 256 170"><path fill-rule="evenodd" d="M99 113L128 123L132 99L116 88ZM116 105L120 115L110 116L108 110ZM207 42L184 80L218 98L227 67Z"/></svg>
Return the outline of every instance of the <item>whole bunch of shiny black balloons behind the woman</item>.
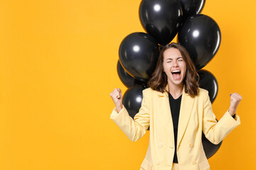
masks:
<svg viewBox="0 0 256 170"><path fill-rule="evenodd" d="M213 59L220 47L218 24L201 13L205 0L142 0L139 19L146 33L131 33L119 47L117 72L127 86L123 104L134 118L142 103L142 90L154 72L159 48L169 44L178 34L178 42L188 50L199 74L198 84L209 91L213 103L218 82L210 72L201 70ZM221 145L202 137L206 156L210 158Z"/></svg>

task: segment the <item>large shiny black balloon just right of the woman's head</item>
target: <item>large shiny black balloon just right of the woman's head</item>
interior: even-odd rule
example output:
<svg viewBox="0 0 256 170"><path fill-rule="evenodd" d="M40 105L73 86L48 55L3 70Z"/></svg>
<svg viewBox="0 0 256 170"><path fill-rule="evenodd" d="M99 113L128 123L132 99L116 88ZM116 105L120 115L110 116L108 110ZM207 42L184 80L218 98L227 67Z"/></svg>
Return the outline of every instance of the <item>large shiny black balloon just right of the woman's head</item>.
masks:
<svg viewBox="0 0 256 170"><path fill-rule="evenodd" d="M196 69L201 69L214 57L220 47L220 28L209 16L190 16L178 32L178 42L188 50Z"/></svg>

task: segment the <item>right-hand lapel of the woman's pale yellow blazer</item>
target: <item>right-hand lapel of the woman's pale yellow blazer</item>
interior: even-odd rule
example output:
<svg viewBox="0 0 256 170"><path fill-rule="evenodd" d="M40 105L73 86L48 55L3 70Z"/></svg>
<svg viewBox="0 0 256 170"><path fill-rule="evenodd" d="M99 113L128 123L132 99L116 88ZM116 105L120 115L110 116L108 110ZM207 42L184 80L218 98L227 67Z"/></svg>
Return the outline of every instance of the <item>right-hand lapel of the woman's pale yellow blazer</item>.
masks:
<svg viewBox="0 0 256 170"><path fill-rule="evenodd" d="M182 137L186 131L188 120L191 116L191 111L193 108L194 98L185 93L185 88L183 88L183 94L181 98L181 109L178 118L178 140L177 148L180 145Z"/></svg>

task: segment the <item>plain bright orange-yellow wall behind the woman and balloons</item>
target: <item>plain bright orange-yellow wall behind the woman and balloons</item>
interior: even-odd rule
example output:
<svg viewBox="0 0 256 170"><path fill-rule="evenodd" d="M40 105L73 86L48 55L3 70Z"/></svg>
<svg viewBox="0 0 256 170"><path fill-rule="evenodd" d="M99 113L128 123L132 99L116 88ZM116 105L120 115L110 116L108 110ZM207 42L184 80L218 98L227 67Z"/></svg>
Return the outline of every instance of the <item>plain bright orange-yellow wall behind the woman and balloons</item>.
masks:
<svg viewBox="0 0 256 170"><path fill-rule="evenodd" d="M144 31L140 1L0 1L0 170L139 169L149 132L131 142L110 120L118 49ZM205 67L218 80L218 119L229 94L241 125L209 159L211 169L254 169L255 0L206 1L222 41Z"/></svg>

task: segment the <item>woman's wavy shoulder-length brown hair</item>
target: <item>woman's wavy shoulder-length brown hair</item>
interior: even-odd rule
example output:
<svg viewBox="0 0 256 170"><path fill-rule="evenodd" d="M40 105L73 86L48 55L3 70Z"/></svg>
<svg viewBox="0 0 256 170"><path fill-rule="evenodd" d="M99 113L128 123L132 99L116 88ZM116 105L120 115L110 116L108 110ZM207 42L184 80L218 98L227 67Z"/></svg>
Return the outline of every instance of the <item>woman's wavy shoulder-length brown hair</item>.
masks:
<svg viewBox="0 0 256 170"><path fill-rule="evenodd" d="M166 86L168 84L166 73L164 72L164 52L169 48L176 48L181 52L183 60L186 62L186 74L183 79L183 84L185 86L185 92L191 96L198 95L198 73L196 72L196 67L193 64L188 51L180 44L172 42L171 44L165 45L159 55L159 60L156 64L156 69L152 74L151 79L149 79L148 86L151 89L160 91L161 93L166 92Z"/></svg>

